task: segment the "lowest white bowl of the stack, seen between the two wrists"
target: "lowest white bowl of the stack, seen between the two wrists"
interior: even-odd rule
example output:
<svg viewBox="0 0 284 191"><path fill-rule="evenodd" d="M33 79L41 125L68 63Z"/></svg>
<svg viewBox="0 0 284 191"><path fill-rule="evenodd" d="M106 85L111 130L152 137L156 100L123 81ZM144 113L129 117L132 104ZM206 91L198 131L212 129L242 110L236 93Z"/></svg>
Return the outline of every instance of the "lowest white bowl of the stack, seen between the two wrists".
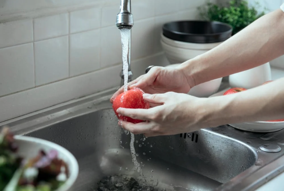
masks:
<svg viewBox="0 0 284 191"><path fill-rule="evenodd" d="M179 64L171 64L166 67L176 67ZM209 82L205 82L193 87L190 92L187 94L195 96L195 97L209 97L210 95L216 93L222 83L223 78L218 78L215 80L211 80Z"/></svg>

